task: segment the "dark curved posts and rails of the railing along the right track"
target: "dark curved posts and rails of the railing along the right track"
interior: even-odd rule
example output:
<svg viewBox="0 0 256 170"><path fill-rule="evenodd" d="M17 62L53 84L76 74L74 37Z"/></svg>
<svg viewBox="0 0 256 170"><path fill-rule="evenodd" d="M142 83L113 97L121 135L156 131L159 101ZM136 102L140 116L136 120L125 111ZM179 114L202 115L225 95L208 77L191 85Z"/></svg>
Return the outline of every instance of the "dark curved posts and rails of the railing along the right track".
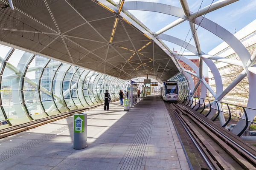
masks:
<svg viewBox="0 0 256 170"><path fill-rule="evenodd" d="M236 117L236 118L239 118L239 119L242 119L242 120L245 120L245 121L246 121L245 126L244 126L244 128L241 130L241 132L238 133L237 136L241 136L241 135L247 130L249 123L256 124L256 122L253 122L253 121L248 120L248 115L247 115L247 112L246 112L246 109L251 109L251 110L256 111L256 108L249 108L249 107L245 107L245 106L239 106L239 105L235 105L235 104L231 104L231 103L227 103L227 102L220 102L220 101L217 101L217 100L205 99L205 98L202 98L202 97L195 97L195 96L184 95L184 94L181 94L181 95L183 95L183 98L184 98L184 99L183 99L183 102L182 102L184 105L189 101L189 102L186 104L186 106L190 104L191 99L192 99L192 103L191 103L191 105L189 105L189 108L191 108L191 106L193 105L194 102L195 102L195 105L192 107L192 109L194 109L195 106L196 106L197 104L199 104L199 107L198 107L197 109L195 109L195 111L198 111L198 109L201 107L201 105L204 105L204 108L203 108L199 113L203 113L203 111L205 110L206 107L209 108L209 111L208 111L207 114L205 115L206 117L209 116L209 114L212 112L212 110L218 111L217 115L212 119L212 121L215 121L215 120L218 118L218 116L220 115L220 112L221 112L221 113L224 113L224 114L228 114L228 115L229 115L229 118L228 118L227 122L225 122L225 124L224 124L222 127L226 127L226 126L227 126L227 124L230 122L232 116L233 116L233 117ZM191 98L191 99L190 99L190 98ZM196 100L196 98L198 98L198 101ZM195 101L194 101L193 99L195 99ZM204 104L201 104L200 99L203 100ZM209 106L207 106L207 105L205 104L205 100L208 100ZM217 108L212 108L212 102L215 102L215 103L216 103ZM222 111L222 110L220 109L219 105L221 105L221 104L227 105L228 113L225 112L225 111ZM236 106L236 107L243 108L243 112L244 112L244 115L245 115L245 119L242 118L242 117L236 116L236 115L232 115L232 114L231 114L231 111L230 111L230 105L231 105L231 106Z"/></svg>

